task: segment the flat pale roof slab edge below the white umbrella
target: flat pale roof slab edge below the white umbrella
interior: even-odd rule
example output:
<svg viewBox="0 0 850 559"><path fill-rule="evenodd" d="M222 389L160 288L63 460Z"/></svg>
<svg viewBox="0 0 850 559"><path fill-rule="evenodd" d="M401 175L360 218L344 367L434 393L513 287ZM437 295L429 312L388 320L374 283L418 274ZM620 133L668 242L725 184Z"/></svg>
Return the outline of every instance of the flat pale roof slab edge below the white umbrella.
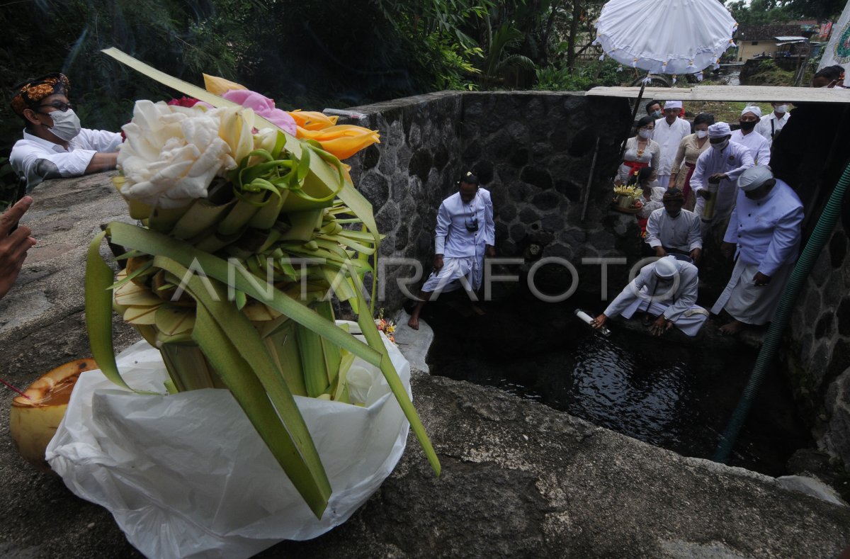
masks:
<svg viewBox="0 0 850 559"><path fill-rule="evenodd" d="M592 88L585 95L637 99L640 88ZM646 88L643 99L659 101L770 101L850 103L850 89L777 88L773 86L694 86L693 88Z"/></svg>

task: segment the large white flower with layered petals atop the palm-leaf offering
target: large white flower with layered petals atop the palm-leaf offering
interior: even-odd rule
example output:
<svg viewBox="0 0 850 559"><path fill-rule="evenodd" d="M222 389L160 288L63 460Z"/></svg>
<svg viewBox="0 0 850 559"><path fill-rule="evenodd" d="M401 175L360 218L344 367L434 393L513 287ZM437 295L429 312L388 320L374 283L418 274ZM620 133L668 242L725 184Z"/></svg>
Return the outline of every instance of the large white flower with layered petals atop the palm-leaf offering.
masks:
<svg viewBox="0 0 850 559"><path fill-rule="evenodd" d="M127 141L118 153L126 179L121 194L162 208L206 198L212 179L251 150L252 121L251 110L137 101L133 121L122 127Z"/></svg>

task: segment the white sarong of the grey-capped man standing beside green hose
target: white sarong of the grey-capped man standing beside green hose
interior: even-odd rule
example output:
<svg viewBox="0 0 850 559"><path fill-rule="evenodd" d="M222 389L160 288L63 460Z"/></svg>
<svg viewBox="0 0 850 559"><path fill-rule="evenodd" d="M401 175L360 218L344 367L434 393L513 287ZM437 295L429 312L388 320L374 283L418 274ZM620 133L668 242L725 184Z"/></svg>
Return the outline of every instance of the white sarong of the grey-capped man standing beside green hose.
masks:
<svg viewBox="0 0 850 559"><path fill-rule="evenodd" d="M770 277L768 285L756 287L753 278L758 272L758 264L743 263L739 258L726 289L717 298L711 313L719 314L725 308L733 319L744 324L768 324L774 318L779 297L793 269L794 264L780 266Z"/></svg>

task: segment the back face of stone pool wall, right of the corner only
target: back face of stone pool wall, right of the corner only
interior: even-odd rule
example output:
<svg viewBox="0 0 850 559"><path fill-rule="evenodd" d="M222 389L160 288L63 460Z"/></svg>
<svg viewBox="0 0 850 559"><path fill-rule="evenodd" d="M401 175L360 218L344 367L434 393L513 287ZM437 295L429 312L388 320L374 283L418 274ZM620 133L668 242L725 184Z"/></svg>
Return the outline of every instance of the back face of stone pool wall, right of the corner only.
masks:
<svg viewBox="0 0 850 559"><path fill-rule="evenodd" d="M630 119L625 99L540 92L464 96L463 166L492 192L500 256L527 263L564 258L579 273L579 289L592 293L599 291L601 268L584 267L581 258L637 257L635 218L609 212L611 178ZM612 285L626 284L625 266L609 273ZM535 280L553 292L572 282L559 266L541 268Z"/></svg>

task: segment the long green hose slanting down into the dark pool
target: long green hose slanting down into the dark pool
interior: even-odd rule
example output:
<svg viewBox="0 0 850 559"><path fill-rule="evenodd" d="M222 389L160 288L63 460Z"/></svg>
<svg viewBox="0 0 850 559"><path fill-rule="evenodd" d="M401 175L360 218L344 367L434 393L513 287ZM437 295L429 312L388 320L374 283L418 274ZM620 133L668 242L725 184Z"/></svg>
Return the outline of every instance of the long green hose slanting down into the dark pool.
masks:
<svg viewBox="0 0 850 559"><path fill-rule="evenodd" d="M808 274L814 268L814 263L817 262L820 251L826 246L832 229L836 226L838 216L841 214L842 198L844 198L844 192L847 190L847 184L850 184L850 165L845 167L842 178L839 179L836 188L832 190L830 200L827 200L824 212L820 214L818 224L815 225L812 236L806 243L806 247L802 250L802 255L797 261L794 271L791 273L791 278L785 284L785 291L782 291L779 307L776 308L774 319L770 323L768 333L764 336L762 349L758 352L756 365L753 367L752 374L750 375L750 381L741 394L738 407L735 408L734 414L729 419L726 430L720 438L720 442L717 443L717 450L715 450L713 459L715 462L725 464L729 459L729 455L732 453L741 427L744 426L746 416L752 407L752 401L756 398L759 387L762 386L764 376L768 373L768 367L776 357L779 342L782 340L782 332L785 330L785 326L788 325L789 319L791 319L791 310L794 308L797 296L800 295L803 282L805 282Z"/></svg>

